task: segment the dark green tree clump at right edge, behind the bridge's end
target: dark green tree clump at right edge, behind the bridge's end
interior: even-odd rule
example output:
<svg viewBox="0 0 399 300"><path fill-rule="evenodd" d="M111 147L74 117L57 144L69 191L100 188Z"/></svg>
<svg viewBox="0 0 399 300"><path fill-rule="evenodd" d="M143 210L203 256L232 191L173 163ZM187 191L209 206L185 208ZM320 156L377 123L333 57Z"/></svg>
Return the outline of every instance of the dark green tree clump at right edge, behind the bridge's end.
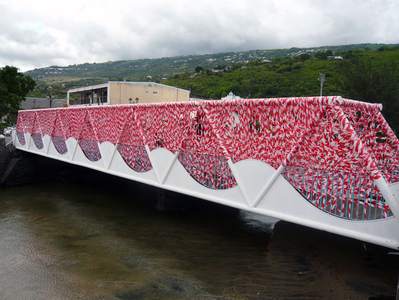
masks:
<svg viewBox="0 0 399 300"><path fill-rule="evenodd" d="M344 96L368 102L380 102L384 116L399 132L399 63L356 57L340 67Z"/></svg>

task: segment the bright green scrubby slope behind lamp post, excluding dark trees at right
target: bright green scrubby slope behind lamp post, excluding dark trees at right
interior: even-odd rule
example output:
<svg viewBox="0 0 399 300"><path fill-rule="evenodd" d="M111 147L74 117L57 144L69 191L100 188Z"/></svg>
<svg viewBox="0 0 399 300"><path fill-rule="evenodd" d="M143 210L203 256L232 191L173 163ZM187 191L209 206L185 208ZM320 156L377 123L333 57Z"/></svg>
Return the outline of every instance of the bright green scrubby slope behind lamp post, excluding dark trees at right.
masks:
<svg viewBox="0 0 399 300"><path fill-rule="evenodd" d="M341 61L310 56L250 62L223 72L204 70L175 75L163 83L191 90L194 97L220 99L230 91L243 98L319 94L319 73L327 76L325 94L340 94L337 68Z"/></svg>

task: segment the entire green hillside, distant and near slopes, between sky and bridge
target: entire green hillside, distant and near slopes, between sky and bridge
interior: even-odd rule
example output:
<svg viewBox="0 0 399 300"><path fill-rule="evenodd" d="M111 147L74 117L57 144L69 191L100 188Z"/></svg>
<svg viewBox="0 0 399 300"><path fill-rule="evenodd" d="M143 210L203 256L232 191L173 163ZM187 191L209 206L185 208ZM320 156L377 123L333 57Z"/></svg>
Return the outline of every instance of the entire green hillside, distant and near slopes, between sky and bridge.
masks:
<svg viewBox="0 0 399 300"><path fill-rule="evenodd" d="M149 80L220 99L230 91L243 98L319 95L324 73L324 95L381 102L398 132L398 63L397 45L359 44L52 66L27 74L37 81L30 95L38 97L65 97L69 88L107 80Z"/></svg>

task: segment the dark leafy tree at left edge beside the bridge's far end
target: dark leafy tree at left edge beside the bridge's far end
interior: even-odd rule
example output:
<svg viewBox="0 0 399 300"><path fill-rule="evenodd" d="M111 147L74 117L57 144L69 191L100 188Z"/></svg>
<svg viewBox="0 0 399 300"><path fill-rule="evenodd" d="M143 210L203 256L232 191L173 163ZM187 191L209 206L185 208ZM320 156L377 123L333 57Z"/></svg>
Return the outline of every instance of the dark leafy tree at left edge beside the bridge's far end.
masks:
<svg viewBox="0 0 399 300"><path fill-rule="evenodd" d="M15 123L21 101L35 84L30 76L15 67L0 68L0 127Z"/></svg>

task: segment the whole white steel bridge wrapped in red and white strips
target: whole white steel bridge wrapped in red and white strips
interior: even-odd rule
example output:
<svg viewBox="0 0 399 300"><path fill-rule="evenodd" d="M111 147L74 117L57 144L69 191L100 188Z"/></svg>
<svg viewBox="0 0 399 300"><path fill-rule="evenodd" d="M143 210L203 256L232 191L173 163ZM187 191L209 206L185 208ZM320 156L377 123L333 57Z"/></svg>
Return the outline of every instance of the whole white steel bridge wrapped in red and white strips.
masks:
<svg viewBox="0 0 399 300"><path fill-rule="evenodd" d="M13 143L399 249L399 140L381 109L307 97L25 110Z"/></svg>

